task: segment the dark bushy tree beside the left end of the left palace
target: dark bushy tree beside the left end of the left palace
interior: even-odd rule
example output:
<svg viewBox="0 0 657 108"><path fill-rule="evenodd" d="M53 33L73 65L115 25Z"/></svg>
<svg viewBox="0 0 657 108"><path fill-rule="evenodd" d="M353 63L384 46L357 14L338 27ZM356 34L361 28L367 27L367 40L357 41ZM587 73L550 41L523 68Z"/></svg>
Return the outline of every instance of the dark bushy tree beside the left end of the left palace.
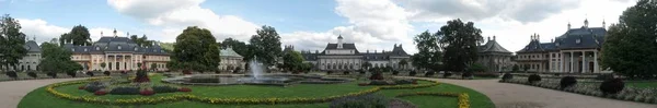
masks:
<svg viewBox="0 0 657 108"><path fill-rule="evenodd" d="M44 60L38 64L39 70L56 73L82 70L82 65L71 60L71 51L49 43L43 43L41 47Z"/></svg>

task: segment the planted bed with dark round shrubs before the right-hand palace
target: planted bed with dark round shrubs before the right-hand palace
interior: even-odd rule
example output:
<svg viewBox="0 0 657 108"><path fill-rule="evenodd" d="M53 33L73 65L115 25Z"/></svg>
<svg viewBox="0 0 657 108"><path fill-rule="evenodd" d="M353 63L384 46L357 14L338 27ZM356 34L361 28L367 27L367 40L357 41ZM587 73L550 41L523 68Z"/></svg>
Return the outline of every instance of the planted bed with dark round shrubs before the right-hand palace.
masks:
<svg viewBox="0 0 657 108"><path fill-rule="evenodd" d="M543 80L535 83L528 83L526 79L511 79L508 81L499 81L502 83L516 83L531 86L538 86L550 89L564 91L581 95L598 96L603 98L612 98L619 100L630 100L636 103L657 104L657 88L639 88L625 86L618 94L603 95L600 91L599 83L576 83L569 87L561 88L557 80Z"/></svg>

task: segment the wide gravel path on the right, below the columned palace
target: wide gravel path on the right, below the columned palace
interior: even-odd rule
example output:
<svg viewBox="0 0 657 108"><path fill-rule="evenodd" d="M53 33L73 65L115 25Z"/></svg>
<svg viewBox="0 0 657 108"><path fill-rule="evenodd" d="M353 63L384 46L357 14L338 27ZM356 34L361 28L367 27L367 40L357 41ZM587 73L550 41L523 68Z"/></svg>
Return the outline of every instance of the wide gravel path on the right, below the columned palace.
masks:
<svg viewBox="0 0 657 108"><path fill-rule="evenodd" d="M600 98L498 80L425 79L456 84L485 94L497 108L657 108L657 105ZM472 106L472 108L477 108Z"/></svg>

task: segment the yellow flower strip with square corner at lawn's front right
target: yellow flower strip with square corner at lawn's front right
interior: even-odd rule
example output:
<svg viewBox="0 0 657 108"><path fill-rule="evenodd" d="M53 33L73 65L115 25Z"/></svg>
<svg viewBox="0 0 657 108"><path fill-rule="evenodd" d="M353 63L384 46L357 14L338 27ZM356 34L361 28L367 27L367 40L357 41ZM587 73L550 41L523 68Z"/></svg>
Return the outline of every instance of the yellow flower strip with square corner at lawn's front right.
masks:
<svg viewBox="0 0 657 108"><path fill-rule="evenodd" d="M435 92L417 92L417 93L404 93L399 94L395 97L406 96L450 96L459 98L459 108L470 108L470 95L466 93L435 93Z"/></svg>

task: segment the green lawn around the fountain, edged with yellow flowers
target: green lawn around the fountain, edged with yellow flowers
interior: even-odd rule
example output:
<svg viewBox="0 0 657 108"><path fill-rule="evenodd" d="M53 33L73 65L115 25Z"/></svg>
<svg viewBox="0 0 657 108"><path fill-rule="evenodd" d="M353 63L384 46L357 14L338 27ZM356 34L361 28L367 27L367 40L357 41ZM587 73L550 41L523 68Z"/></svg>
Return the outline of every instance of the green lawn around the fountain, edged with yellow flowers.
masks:
<svg viewBox="0 0 657 108"><path fill-rule="evenodd" d="M161 75L153 75L151 80L154 84L161 84ZM430 83L422 81L422 83ZM76 96L89 96L99 98L134 98L142 97L139 95L105 95L95 96L92 93L78 89L77 85L68 85L57 87L56 89L66 94ZM353 92L359 92L371 88L372 86L357 86L357 82L344 83L344 84L297 84L293 86L281 87L281 86L258 86L258 85L230 85L230 86L188 86L193 89L191 93L169 93L169 94L155 94L151 97L168 96L174 94L194 94L197 96L207 97L253 97L253 98L267 98L267 97L324 97L347 94ZM471 106L473 108L493 108L494 105L485 95L475 91L456 86L451 84L440 84L438 86L415 88L415 89L382 89L377 94L382 94L387 97L394 97L396 94L408 93L408 92L466 92L470 95ZM436 96L410 96L403 97L402 99L410 100L420 108L426 107L457 107L457 97L436 97ZM54 97L51 94L45 91L45 87L37 88L28 93L21 103L19 108L59 108L59 107L71 107L71 108L89 108L89 107L139 107L139 108L162 108L162 107L221 107L221 108L264 108L264 107L276 107L276 108L325 108L328 107L330 103L322 104L300 104L300 105L210 105L197 101L174 101L158 105L134 105L134 106L118 106L118 105L97 105L89 103L79 103L67 99Z"/></svg>

